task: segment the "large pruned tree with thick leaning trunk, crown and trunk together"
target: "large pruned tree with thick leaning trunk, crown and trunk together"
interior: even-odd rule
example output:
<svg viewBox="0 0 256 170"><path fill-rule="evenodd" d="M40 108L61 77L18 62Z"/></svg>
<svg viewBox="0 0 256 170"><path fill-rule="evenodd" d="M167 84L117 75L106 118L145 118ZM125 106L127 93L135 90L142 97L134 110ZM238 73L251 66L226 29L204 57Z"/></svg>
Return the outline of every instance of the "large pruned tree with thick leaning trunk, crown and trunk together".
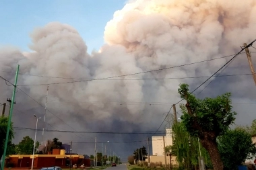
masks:
<svg viewBox="0 0 256 170"><path fill-rule="evenodd" d="M189 85L181 84L179 93L187 103L181 104L187 132L198 137L203 147L208 151L215 170L224 168L218 151L217 137L224 134L230 124L234 123L235 112L232 112L231 93L216 98L197 99L189 92Z"/></svg>

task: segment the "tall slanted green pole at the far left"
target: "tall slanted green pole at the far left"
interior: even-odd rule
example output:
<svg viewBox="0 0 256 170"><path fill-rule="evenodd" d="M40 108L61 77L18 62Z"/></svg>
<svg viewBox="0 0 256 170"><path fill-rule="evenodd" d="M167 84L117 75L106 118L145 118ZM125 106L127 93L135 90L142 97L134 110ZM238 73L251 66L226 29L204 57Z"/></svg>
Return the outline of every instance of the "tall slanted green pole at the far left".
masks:
<svg viewBox="0 0 256 170"><path fill-rule="evenodd" d="M20 69L20 65L17 66L16 75L15 75L14 89L13 89L13 93L12 93L12 97L11 97L11 109L10 109L10 114L9 114L9 118L8 118L8 126L7 126L7 132L6 132L6 137L5 137L5 148L3 150L3 161L2 161L1 169L3 169L5 167L5 155L6 155L7 144L8 144L8 139L9 139L9 131L10 131L10 126L11 126L11 115L12 115L12 110L13 110L13 102L15 99L15 92L16 92L16 86L17 86L17 81L18 81L19 69Z"/></svg>

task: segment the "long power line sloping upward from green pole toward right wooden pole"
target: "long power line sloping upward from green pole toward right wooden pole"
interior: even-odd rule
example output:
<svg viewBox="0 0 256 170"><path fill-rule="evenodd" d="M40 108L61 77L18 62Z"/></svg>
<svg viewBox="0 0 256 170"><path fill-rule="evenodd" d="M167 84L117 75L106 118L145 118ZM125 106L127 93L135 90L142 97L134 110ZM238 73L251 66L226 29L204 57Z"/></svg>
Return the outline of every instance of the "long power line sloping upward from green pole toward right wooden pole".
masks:
<svg viewBox="0 0 256 170"><path fill-rule="evenodd" d="M228 55L228 56L233 56L233 55ZM68 82L59 82L59 83L42 83L42 84L17 85L17 86L59 85L59 84L66 84L66 83L79 83L79 82L85 82L85 81L95 81L95 80L102 80L102 79L111 79L111 78L125 77L125 76L130 76L130 75L139 75L139 74L142 74L142 73L150 73L150 72L154 72L154 71L162 71L162 70L166 70L166 69L173 69L173 68L183 67L183 66L188 66L188 65L195 65L195 64L198 64L198 63L201 63L201 62L217 60L217 59L220 59L220 58L226 58L228 56L212 58L212 59L209 59L209 60L201 60L201 61L198 61L198 62L191 62L191 63L185 64L185 65L178 65L178 66L174 66L174 67L166 67L166 68L163 68L163 69L156 69L156 70L152 70L152 71L143 71L143 72L139 72L139 73L131 73L131 74L127 74L127 75L117 75L117 76L113 76L113 77L104 77L104 78L99 78L99 79L86 79L86 80L81 80L81 81L68 81Z"/></svg>

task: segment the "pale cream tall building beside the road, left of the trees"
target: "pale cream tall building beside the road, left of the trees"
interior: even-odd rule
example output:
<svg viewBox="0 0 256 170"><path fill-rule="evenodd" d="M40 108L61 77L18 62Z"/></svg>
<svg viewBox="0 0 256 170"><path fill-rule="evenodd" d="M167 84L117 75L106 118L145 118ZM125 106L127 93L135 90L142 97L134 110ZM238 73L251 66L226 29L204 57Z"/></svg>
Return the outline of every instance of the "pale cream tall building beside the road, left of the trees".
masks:
<svg viewBox="0 0 256 170"><path fill-rule="evenodd" d="M166 135L152 136L152 155L164 155L164 142L165 146L172 145L172 129L166 129Z"/></svg>

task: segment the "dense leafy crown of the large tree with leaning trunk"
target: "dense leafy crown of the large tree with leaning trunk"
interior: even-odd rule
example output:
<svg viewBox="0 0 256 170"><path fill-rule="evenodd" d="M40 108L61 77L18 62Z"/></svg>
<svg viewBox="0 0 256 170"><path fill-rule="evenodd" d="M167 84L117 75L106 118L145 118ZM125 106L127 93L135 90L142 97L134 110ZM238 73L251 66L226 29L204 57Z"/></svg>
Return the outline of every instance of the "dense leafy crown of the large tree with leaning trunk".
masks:
<svg viewBox="0 0 256 170"><path fill-rule="evenodd" d="M181 104L183 116L181 119L192 136L203 136L204 132L214 132L214 137L224 134L230 124L234 123L236 112L232 112L231 93L216 98L197 99L189 93L189 85L180 85L179 93L186 99L186 105ZM189 106L189 110L187 110Z"/></svg>

